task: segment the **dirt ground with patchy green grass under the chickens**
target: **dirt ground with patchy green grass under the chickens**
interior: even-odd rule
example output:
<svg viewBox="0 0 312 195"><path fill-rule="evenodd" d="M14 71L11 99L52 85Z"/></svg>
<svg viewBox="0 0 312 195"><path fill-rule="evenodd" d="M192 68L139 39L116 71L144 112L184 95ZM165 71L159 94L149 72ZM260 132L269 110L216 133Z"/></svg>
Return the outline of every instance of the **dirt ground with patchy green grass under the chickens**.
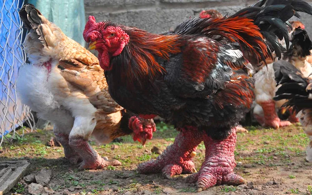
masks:
<svg viewBox="0 0 312 195"><path fill-rule="evenodd" d="M134 143L130 136L123 137L121 143L107 145L91 141L93 148L102 156L122 162L119 167L78 171L78 165L71 165L64 158L62 147L46 146L46 142L53 137L51 129L37 130L23 138L15 137L12 144L2 144L0 161L27 159L31 162L27 174L37 173L42 168L51 169L49 186L56 195L312 194L312 164L305 161L305 147L309 139L302 127L292 125L277 130L254 126L246 128L249 133L238 134L235 151L235 172L243 176L246 183L215 186L200 193L196 192L196 186L185 183L187 175L169 180L160 173L141 175L136 172L138 163L157 157L158 154L150 152L153 146L163 150L173 143L177 131L163 123L157 124L153 139L145 147ZM202 143L194 158L197 170L205 157L204 151ZM20 180L11 193L29 194L28 185Z"/></svg>

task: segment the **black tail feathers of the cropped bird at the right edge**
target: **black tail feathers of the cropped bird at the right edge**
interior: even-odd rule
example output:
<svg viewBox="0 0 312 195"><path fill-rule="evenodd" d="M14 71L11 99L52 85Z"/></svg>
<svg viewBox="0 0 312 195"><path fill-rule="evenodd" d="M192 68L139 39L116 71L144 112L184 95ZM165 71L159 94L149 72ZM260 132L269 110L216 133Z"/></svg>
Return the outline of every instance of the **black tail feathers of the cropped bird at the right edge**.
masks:
<svg viewBox="0 0 312 195"><path fill-rule="evenodd" d="M283 107L294 107L296 112L304 108L312 108L312 83L288 61L279 60L273 63L275 80L280 88L274 100L288 100Z"/></svg>

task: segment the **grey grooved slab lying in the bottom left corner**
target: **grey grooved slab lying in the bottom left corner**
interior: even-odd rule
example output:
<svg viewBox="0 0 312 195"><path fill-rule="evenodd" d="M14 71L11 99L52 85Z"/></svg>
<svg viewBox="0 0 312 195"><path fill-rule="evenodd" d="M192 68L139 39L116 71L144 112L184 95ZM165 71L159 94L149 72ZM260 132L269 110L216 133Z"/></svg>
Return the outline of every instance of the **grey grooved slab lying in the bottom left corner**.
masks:
<svg viewBox="0 0 312 195"><path fill-rule="evenodd" d="M9 192L17 184L29 165L26 160L0 162L0 195Z"/></svg>

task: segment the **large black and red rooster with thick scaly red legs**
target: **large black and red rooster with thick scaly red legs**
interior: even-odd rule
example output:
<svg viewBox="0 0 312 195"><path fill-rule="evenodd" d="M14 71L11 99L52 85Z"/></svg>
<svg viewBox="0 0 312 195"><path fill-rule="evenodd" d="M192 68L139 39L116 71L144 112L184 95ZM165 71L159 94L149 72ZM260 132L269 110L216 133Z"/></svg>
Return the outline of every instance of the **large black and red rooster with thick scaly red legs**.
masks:
<svg viewBox="0 0 312 195"><path fill-rule="evenodd" d="M252 65L271 56L269 46L280 50L277 37L288 46L286 24L299 17L296 11L312 14L312 7L302 0L263 0L228 17L189 18L161 34L89 16L83 36L99 52L113 99L180 131L156 160L139 164L139 173L194 173L188 181L199 192L244 182L233 172L235 128L255 96ZM192 158L202 141L206 158L195 173Z"/></svg>

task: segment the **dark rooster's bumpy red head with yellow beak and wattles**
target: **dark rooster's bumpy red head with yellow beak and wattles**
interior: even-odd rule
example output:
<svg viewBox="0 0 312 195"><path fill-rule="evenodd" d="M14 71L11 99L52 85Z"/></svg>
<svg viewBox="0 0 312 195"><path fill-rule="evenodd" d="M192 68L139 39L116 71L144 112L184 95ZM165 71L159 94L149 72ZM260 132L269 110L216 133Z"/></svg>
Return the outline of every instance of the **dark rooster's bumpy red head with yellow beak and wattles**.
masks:
<svg viewBox="0 0 312 195"><path fill-rule="evenodd" d="M110 70L110 58L118 56L129 42L129 35L122 28L110 21L95 22L94 16L89 16L85 24L83 38L89 44L90 50L99 52L100 66Z"/></svg>

